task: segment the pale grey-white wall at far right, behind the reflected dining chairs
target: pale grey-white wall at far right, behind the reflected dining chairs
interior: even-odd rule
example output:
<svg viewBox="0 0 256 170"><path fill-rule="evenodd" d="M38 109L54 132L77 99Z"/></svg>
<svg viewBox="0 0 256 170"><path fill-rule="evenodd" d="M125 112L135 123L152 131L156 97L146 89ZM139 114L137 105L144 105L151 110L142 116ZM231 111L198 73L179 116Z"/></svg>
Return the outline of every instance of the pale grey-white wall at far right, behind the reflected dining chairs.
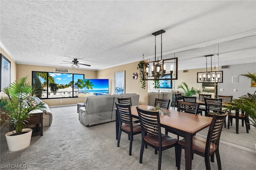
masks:
<svg viewBox="0 0 256 170"><path fill-rule="evenodd" d="M218 93L219 95L232 95L234 99L246 95L247 93L254 93L256 91L256 87L251 86L251 79L248 79L244 76L239 76L240 74L246 74L248 71L250 73L256 73L256 63L249 64L238 64L238 65L230 65L229 69L221 69L223 71L223 83L219 83L218 85ZM239 83L232 83L232 77L239 76ZM223 89L223 91L220 91ZM234 92L234 89L237 89Z"/></svg>

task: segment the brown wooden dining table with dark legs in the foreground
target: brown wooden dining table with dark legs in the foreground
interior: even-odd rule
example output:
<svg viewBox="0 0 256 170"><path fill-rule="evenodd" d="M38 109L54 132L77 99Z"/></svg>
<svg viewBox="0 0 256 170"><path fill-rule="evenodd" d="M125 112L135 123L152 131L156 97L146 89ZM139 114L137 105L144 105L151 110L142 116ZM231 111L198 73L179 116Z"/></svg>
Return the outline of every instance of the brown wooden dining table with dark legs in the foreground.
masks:
<svg viewBox="0 0 256 170"><path fill-rule="evenodd" d="M136 107L140 109L149 110L152 106L138 105L131 106L132 117L139 119L138 111ZM180 136L185 138L185 167L186 170L191 170L192 167L192 142L193 136L200 130L210 126L212 117L205 117L200 115L194 115L174 110L163 109L165 112L170 113L168 115L159 113L160 125L163 128L176 132ZM116 139L119 132L118 113L116 111Z"/></svg>

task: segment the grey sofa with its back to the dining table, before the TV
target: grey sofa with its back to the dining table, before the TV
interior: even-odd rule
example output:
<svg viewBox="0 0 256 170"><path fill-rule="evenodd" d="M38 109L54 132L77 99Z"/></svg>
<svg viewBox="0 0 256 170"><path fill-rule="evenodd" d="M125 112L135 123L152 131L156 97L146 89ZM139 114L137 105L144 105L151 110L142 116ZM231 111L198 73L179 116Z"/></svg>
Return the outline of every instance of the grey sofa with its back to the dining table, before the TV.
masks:
<svg viewBox="0 0 256 170"><path fill-rule="evenodd" d="M120 95L97 95L85 99L85 107L79 109L79 121L85 126L96 125L116 120L118 98L132 98L132 105L138 105L140 95L125 93Z"/></svg>

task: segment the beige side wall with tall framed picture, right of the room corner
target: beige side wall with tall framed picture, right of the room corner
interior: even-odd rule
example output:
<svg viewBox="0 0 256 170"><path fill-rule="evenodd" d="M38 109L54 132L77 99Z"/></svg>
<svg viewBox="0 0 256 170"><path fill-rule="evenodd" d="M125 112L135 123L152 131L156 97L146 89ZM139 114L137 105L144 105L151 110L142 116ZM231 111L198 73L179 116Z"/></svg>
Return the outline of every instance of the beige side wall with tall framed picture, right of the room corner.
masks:
<svg viewBox="0 0 256 170"><path fill-rule="evenodd" d="M125 71L125 93L137 93L140 95L139 105L147 105L148 104L148 86L145 89L140 88L140 77L134 80L132 79L132 74L134 72L138 73L137 69L139 62L134 62L130 64L120 65L116 67L111 67L108 69L102 69L97 71L97 79L109 79L109 93L115 93L115 72L117 71Z"/></svg>

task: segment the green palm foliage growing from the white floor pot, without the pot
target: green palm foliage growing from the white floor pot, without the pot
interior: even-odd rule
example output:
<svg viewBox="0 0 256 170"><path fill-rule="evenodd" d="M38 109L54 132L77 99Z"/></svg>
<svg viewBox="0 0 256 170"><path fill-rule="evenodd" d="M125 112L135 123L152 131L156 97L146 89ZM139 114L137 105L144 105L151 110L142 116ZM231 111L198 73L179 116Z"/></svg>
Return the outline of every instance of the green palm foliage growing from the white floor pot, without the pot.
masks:
<svg viewBox="0 0 256 170"><path fill-rule="evenodd" d="M31 111L44 109L44 103L33 102L35 93L40 89L35 89L28 83L28 77L23 77L11 83L8 87L2 89L7 95L6 103L2 108L8 116L10 126L16 130L16 134L21 134L22 129L28 125L28 119L32 114Z"/></svg>

